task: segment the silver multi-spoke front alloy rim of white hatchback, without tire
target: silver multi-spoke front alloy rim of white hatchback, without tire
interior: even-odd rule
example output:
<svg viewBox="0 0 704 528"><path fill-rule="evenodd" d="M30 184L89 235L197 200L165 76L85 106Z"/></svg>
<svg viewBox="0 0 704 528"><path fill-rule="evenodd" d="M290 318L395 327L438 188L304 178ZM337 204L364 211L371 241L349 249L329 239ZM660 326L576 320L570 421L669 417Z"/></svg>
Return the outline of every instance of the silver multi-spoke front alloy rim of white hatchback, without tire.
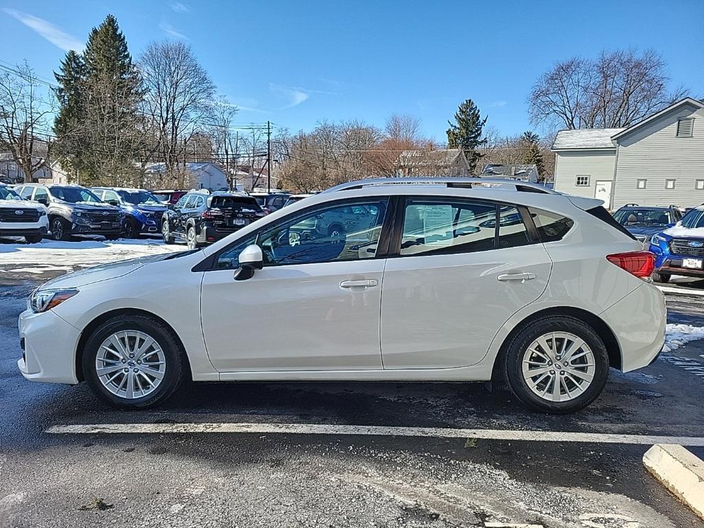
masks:
<svg viewBox="0 0 704 528"><path fill-rule="evenodd" d="M96 355L101 384L127 400L155 391L166 372L166 356L155 339L139 330L120 330L107 337Z"/></svg>

